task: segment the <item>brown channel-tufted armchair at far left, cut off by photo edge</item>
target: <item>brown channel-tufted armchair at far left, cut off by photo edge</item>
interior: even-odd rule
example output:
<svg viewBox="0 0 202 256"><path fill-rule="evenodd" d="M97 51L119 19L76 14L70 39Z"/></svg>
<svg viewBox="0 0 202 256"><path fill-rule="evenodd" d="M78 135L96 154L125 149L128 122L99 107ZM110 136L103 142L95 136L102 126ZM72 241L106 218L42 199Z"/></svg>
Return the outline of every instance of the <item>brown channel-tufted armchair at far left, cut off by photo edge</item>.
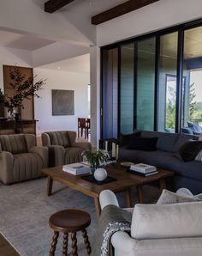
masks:
<svg viewBox="0 0 202 256"><path fill-rule="evenodd" d="M36 146L33 134L1 135L0 167L3 184L39 178L48 167L48 148Z"/></svg>

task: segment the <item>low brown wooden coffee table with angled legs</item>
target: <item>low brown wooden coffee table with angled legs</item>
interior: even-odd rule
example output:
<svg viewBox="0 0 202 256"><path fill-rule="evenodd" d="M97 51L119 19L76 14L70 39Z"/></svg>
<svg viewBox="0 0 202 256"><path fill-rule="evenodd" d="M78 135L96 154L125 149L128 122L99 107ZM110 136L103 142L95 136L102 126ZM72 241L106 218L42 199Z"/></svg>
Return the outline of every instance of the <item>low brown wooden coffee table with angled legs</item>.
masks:
<svg viewBox="0 0 202 256"><path fill-rule="evenodd" d="M108 171L108 175L115 178L116 181L106 183L104 185L97 185L90 181L83 180L80 176L68 174L62 171L62 166L55 168L42 169L42 173L48 175L47 181L47 195L50 196L52 192L53 180L61 182L63 185L68 186L74 190L84 193L86 196L94 198L97 217L100 214L99 205L99 193L104 189L110 189L112 192L125 192L127 206L131 207L130 187L135 186L138 191L138 197L140 203L144 202L142 186L151 184L153 181L159 182L160 190L165 188L165 178L174 175L173 172L165 169L158 168L158 174L151 175L149 177L142 177L135 174L130 174L126 171L126 168L116 165L109 165L105 167Z"/></svg>

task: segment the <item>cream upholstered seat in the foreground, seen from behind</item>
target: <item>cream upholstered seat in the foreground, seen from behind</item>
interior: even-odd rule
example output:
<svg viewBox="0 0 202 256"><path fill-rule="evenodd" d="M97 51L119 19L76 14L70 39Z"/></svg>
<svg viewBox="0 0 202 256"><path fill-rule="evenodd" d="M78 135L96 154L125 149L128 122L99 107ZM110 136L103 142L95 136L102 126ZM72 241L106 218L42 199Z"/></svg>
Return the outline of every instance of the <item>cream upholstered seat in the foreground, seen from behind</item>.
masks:
<svg viewBox="0 0 202 256"><path fill-rule="evenodd" d="M191 194L187 197L191 200ZM102 210L119 206L110 190L100 193L99 202ZM115 256L202 255L202 202L136 204L126 210L132 212L131 231L111 236Z"/></svg>

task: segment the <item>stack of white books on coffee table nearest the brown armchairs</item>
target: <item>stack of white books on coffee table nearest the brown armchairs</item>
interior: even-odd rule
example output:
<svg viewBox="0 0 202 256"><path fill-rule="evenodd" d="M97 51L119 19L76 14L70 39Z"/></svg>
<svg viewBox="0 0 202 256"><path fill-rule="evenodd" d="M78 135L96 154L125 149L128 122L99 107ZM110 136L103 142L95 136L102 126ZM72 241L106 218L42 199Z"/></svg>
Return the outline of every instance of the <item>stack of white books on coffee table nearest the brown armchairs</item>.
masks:
<svg viewBox="0 0 202 256"><path fill-rule="evenodd" d="M81 174L89 174L91 172L91 168L81 162L75 162L75 163L63 165L62 171L68 174L81 175Z"/></svg>

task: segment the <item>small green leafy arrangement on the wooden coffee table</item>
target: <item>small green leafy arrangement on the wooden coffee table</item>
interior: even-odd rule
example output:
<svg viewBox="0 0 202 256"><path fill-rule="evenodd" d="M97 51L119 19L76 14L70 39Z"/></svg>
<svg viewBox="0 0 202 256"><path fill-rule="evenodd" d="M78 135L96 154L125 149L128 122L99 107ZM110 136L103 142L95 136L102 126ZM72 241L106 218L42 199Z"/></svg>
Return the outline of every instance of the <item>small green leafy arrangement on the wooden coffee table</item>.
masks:
<svg viewBox="0 0 202 256"><path fill-rule="evenodd" d="M92 173L102 164L106 163L110 159L110 155L107 150L96 149L95 151L86 150L82 153L83 160L88 162L91 166Z"/></svg>

